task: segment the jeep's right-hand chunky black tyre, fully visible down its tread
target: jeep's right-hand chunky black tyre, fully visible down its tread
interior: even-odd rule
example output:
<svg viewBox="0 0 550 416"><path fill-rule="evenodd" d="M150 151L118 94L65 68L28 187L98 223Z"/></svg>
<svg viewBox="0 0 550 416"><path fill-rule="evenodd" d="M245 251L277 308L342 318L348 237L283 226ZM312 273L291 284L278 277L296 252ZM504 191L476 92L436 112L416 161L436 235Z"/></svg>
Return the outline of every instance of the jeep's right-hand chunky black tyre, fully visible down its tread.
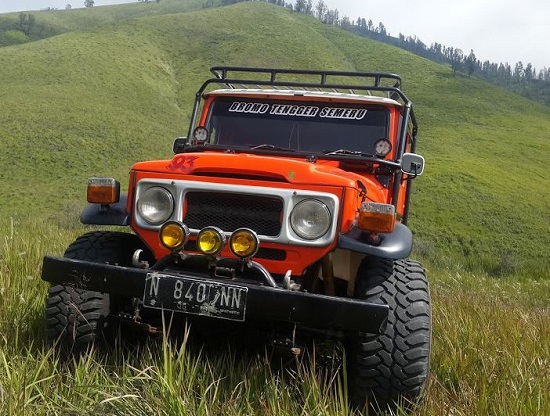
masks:
<svg viewBox="0 0 550 416"><path fill-rule="evenodd" d="M348 339L353 404L375 411L411 409L422 396L430 369L430 292L422 266L412 260L366 258L355 297L389 306L381 334Z"/></svg>

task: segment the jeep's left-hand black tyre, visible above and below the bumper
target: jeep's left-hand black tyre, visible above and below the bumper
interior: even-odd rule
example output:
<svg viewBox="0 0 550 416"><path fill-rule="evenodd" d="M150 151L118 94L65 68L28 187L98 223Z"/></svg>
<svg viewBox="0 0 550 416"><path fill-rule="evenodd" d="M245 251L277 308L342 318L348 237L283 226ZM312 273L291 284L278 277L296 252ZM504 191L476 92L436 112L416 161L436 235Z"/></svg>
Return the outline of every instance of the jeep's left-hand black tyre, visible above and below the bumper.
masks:
<svg viewBox="0 0 550 416"><path fill-rule="evenodd" d="M65 257L96 263L130 266L132 254L143 244L133 234L91 232L77 238ZM110 341L108 294L55 285L46 300L46 336L66 352L78 353L93 343Z"/></svg>

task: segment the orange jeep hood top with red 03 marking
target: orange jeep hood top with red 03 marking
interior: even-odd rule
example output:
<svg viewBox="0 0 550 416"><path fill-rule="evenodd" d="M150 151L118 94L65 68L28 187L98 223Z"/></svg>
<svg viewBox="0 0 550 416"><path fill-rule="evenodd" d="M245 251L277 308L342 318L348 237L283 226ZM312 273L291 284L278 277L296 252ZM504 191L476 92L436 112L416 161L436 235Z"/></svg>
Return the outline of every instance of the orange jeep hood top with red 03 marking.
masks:
<svg viewBox="0 0 550 416"><path fill-rule="evenodd" d="M356 188L357 182L368 188L379 188L372 180L342 170L338 162L319 160L315 163L298 158L217 152L182 153L172 160L140 162L133 170L167 175L237 177L251 180L287 182L294 185L330 185Z"/></svg>

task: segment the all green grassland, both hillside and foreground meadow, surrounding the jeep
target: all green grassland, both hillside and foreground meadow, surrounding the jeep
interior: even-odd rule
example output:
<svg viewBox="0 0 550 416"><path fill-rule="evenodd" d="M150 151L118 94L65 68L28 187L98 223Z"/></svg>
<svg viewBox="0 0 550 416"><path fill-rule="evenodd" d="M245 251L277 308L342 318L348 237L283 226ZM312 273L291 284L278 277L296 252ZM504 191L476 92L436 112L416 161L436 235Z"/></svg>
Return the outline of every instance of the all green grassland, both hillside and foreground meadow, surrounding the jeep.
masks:
<svg viewBox="0 0 550 416"><path fill-rule="evenodd" d="M86 179L169 158L213 65L402 76L427 161L412 199L432 376L419 415L550 414L550 109L265 3L36 12L57 36L0 48L0 414L347 414L343 368L151 341L62 362L40 280ZM8 15L0 15L0 23ZM52 29L53 30L53 29Z"/></svg>

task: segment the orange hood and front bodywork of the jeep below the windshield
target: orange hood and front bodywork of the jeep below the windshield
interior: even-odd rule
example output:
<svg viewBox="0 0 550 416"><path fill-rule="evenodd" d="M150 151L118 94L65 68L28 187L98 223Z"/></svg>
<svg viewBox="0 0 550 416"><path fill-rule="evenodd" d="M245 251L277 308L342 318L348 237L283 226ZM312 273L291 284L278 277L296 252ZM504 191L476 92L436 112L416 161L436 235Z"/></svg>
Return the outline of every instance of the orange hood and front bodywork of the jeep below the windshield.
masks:
<svg viewBox="0 0 550 416"><path fill-rule="evenodd" d="M341 212L339 230L347 232L356 221L361 202L365 198L373 201L385 200L388 191L376 181L353 172L346 172L338 165L339 163L334 161L311 163L303 159L216 152L180 154L172 160L140 162L132 169L127 209L128 212L132 212L133 189L141 179L145 178L317 191L331 193L339 199ZM366 193L359 191L358 188L364 188ZM160 244L157 231L141 229L136 224L134 216L132 216L131 226L146 242L157 259L169 254L168 250ZM261 242L260 247L284 250L287 258L284 262L262 259L257 261L272 273L284 274L292 270L293 274L301 274L308 266L334 250L335 246L336 239L325 247ZM232 256L227 248L221 255Z"/></svg>

